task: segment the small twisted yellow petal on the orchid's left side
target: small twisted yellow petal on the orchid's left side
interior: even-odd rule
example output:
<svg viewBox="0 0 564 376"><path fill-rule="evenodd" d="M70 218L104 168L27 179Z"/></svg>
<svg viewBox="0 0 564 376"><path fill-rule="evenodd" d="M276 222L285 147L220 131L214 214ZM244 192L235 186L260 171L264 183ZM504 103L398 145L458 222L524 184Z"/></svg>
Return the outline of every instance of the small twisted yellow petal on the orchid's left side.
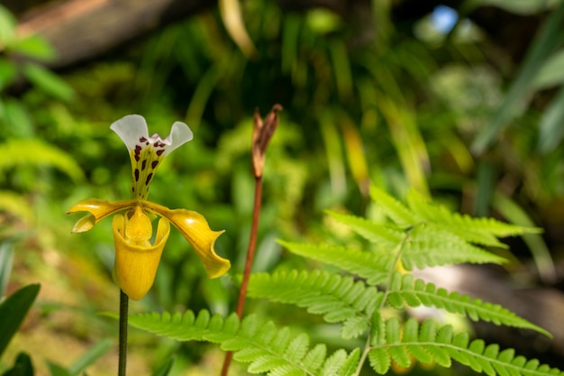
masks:
<svg viewBox="0 0 564 376"><path fill-rule="evenodd" d="M80 218L72 229L73 233L84 233L97 225L106 216L134 205L134 200L107 201L99 198L86 198L68 209L67 214L88 212L91 216Z"/></svg>

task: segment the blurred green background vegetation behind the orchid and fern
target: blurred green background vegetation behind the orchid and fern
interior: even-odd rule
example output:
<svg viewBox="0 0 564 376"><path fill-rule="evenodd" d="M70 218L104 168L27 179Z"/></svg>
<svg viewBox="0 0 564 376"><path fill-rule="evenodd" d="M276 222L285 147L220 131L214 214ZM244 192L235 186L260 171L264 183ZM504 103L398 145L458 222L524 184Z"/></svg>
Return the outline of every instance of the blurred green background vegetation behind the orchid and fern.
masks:
<svg viewBox="0 0 564 376"><path fill-rule="evenodd" d="M254 51L235 42L211 7L54 73L42 66L57 59L49 43L41 35L20 38L14 16L0 8L0 253L3 275L11 271L0 292L41 283L3 364L33 348L36 367L47 374L50 362L68 366L114 338L114 321L96 315L115 311L118 300L109 223L71 235L77 218L65 211L86 197L129 196L128 156L109 130L128 114L144 115L150 132L161 135L176 120L195 132L160 168L150 198L196 210L225 229L216 249L232 260L232 277L242 270L250 228L251 115L279 103L256 271L305 262L277 239L353 241L323 210L375 216L372 182L397 197L414 188L455 211L543 228L513 241L505 268L520 288L559 294L564 5L482 0L416 19L393 5L374 1L352 22L326 8L293 12L248 0L241 14ZM520 56L468 18L492 9L537 21ZM179 234L171 234L163 258L154 289L133 311L232 311L232 277L207 280ZM132 332L132 349L132 374L148 374L171 353L173 374L209 374L222 359L208 347L141 332ZM562 368L561 349L532 350ZM108 353L91 373L114 373L114 363Z"/></svg>

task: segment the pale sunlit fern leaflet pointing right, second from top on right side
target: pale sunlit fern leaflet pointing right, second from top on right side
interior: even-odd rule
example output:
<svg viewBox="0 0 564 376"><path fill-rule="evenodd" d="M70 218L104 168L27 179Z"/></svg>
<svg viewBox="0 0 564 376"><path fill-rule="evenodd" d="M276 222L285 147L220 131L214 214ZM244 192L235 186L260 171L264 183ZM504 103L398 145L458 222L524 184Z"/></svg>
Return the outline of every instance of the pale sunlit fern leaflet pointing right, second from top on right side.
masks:
<svg viewBox="0 0 564 376"><path fill-rule="evenodd" d="M502 264L506 260L467 243L456 234L422 225L415 227L405 242L402 262L405 269L411 271L414 266L423 269L461 262Z"/></svg>

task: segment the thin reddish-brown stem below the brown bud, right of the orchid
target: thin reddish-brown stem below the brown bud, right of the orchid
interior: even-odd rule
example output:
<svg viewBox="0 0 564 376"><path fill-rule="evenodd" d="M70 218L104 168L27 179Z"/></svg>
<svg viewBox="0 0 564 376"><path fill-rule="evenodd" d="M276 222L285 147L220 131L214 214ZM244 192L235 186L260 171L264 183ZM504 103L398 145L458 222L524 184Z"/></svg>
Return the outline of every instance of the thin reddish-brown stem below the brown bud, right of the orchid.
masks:
<svg viewBox="0 0 564 376"><path fill-rule="evenodd" d="M240 318L243 315L243 307L245 307L245 298L247 297L247 288L249 286L250 270L252 268L252 261L255 258L255 249L257 248L257 233L259 232L259 216L260 216L260 203L262 198L262 175L255 177L255 199L252 209L252 224L250 227L249 248L247 250L247 261L245 261L245 270L243 271L243 278L241 280L241 288L239 289L239 298L237 299L237 307L235 312ZM225 354L223 361L222 376L227 376L229 372L229 365L232 361L232 352Z"/></svg>

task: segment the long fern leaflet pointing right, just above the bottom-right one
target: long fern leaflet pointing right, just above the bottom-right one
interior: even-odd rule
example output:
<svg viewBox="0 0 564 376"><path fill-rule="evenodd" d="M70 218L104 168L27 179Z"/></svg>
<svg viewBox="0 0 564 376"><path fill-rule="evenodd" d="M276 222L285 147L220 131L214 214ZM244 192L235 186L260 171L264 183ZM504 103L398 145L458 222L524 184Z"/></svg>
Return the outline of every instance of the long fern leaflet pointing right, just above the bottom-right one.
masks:
<svg viewBox="0 0 564 376"><path fill-rule="evenodd" d="M409 307L423 305L443 308L450 313L468 316L474 321L482 320L492 322L497 326L532 329L542 335L552 337L545 329L535 326L498 304L487 303L479 298L472 299L458 292L449 293L446 289L438 289L432 283L414 280L412 274L402 275L399 271L392 276L387 302L397 309L404 308L405 304Z"/></svg>

